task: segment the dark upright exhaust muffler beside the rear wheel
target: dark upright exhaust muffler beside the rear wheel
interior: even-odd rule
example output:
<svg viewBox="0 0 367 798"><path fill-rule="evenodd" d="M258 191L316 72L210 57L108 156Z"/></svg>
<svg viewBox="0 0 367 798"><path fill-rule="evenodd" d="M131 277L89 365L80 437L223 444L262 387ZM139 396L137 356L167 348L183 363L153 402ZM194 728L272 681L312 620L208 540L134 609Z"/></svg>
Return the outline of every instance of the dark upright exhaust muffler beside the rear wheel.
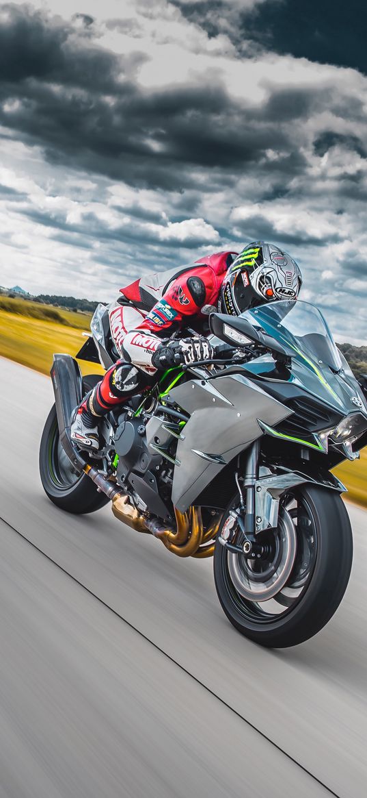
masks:
<svg viewBox="0 0 367 798"><path fill-rule="evenodd" d="M61 445L72 464L84 468L85 461L72 445L70 418L83 397L82 377L79 365L69 354L54 354L50 371L57 412L57 424Z"/></svg>

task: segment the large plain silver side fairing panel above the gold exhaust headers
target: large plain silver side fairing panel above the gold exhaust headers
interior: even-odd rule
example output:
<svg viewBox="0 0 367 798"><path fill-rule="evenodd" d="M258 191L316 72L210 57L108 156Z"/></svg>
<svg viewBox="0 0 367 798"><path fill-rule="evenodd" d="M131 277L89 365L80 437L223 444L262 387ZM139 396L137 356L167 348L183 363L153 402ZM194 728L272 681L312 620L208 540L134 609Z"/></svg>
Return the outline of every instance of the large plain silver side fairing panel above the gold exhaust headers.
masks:
<svg viewBox="0 0 367 798"><path fill-rule="evenodd" d="M292 412L240 373L190 380L172 389L170 399L190 415L174 468L172 501L180 512L195 504L221 469L263 435L257 418L279 424Z"/></svg>

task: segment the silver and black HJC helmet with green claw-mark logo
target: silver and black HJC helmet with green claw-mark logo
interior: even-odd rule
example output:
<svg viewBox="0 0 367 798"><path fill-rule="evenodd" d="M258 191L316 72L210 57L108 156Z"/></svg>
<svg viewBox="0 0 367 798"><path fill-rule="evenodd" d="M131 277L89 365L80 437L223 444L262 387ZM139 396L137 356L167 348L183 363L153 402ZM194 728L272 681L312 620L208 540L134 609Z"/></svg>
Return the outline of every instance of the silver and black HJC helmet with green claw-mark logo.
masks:
<svg viewBox="0 0 367 798"><path fill-rule="evenodd" d="M301 286L301 271L291 255L256 241L232 261L221 286L220 310L238 316L263 302L296 299Z"/></svg>

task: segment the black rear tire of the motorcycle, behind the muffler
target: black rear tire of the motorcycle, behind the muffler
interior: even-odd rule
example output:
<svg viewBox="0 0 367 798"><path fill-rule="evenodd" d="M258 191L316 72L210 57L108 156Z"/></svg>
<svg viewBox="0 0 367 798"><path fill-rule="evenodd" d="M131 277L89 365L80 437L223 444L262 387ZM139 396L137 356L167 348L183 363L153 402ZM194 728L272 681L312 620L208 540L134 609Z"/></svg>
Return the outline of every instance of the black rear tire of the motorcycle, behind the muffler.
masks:
<svg viewBox="0 0 367 798"><path fill-rule="evenodd" d="M89 374L83 379L84 393L88 393L100 376ZM65 512L74 515L100 510L109 501L86 474L72 468L59 439L56 407L53 405L45 423L40 445L41 482L49 499Z"/></svg>

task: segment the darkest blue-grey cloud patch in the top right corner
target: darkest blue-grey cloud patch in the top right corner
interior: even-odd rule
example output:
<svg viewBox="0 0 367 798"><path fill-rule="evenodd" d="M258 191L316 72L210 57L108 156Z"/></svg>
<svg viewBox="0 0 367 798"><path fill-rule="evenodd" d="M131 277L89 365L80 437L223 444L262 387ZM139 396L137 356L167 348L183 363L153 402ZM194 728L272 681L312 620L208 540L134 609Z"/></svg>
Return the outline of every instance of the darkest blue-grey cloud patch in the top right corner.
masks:
<svg viewBox="0 0 367 798"><path fill-rule="evenodd" d="M250 8L224 0L171 2L209 36L228 34L240 51L250 39L252 53L257 46L367 73L367 6L361 0L264 0Z"/></svg>

